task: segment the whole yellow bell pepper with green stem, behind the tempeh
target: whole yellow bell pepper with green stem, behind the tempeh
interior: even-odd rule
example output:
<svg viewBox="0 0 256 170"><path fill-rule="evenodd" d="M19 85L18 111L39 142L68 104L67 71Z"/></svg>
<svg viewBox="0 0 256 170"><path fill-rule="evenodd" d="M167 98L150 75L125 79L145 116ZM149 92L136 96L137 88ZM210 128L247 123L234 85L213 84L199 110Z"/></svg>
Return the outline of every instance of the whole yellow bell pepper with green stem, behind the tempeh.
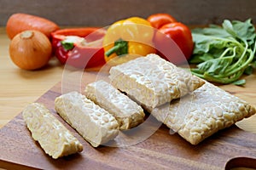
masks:
<svg viewBox="0 0 256 170"><path fill-rule="evenodd" d="M119 65L130 59L156 53L153 44L154 28L139 17L119 20L108 28L103 39L108 65Z"/></svg>

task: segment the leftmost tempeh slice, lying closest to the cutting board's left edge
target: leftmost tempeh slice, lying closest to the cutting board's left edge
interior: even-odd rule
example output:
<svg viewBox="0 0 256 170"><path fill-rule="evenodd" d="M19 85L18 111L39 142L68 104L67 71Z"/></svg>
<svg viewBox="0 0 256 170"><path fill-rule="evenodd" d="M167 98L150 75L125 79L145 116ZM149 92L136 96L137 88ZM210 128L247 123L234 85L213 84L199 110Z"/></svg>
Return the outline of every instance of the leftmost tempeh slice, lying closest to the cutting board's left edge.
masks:
<svg viewBox="0 0 256 170"><path fill-rule="evenodd" d="M27 105L22 116L32 133L32 138L54 159L83 150L79 140L44 105Z"/></svg>

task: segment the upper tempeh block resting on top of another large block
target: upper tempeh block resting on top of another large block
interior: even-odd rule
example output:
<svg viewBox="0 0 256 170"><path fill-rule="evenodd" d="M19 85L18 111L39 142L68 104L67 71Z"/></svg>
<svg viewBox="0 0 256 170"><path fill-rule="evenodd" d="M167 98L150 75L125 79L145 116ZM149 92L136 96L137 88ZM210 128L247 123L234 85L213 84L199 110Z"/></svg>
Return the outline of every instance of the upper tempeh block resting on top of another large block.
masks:
<svg viewBox="0 0 256 170"><path fill-rule="evenodd" d="M113 66L109 73L115 88L149 108L180 98L204 84L156 54Z"/></svg>

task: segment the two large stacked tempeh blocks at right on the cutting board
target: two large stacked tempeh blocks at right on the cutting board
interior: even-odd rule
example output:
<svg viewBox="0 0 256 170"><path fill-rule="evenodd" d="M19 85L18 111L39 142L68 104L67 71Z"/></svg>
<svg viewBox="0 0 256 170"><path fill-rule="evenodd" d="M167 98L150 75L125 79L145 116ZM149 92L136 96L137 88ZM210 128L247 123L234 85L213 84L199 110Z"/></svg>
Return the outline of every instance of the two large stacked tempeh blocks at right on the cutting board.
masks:
<svg viewBox="0 0 256 170"><path fill-rule="evenodd" d="M191 144L255 114L246 101L155 54L112 67L110 80Z"/></svg>

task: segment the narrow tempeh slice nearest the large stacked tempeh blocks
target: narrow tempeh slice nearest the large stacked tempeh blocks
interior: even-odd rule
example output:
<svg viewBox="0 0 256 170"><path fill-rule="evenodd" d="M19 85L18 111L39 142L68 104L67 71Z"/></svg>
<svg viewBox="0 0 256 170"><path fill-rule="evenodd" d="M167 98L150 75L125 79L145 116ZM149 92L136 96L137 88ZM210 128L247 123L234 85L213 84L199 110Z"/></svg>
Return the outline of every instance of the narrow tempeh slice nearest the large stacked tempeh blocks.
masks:
<svg viewBox="0 0 256 170"><path fill-rule="evenodd" d="M108 82L91 82L86 86L84 94L112 114L119 122L120 130L136 127L144 120L143 108Z"/></svg>

